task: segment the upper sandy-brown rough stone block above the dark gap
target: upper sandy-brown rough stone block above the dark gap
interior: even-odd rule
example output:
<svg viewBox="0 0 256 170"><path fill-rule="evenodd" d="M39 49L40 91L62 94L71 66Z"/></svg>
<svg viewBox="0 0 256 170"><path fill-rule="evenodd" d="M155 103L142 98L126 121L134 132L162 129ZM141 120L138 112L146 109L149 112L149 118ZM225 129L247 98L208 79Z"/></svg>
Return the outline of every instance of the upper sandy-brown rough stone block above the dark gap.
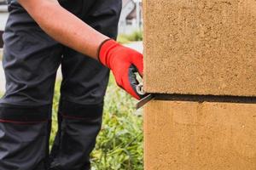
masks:
<svg viewBox="0 0 256 170"><path fill-rule="evenodd" d="M255 0L143 0L148 93L256 96Z"/></svg>

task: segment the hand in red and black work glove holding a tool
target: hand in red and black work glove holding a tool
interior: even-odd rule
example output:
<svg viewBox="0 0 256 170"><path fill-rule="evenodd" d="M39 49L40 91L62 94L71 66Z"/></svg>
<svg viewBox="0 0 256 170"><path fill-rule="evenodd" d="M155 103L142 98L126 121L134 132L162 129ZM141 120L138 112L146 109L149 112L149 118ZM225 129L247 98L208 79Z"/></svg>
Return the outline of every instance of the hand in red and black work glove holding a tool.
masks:
<svg viewBox="0 0 256 170"><path fill-rule="evenodd" d="M136 99L143 98L142 94L137 93L139 82L135 75L138 72L143 77L143 54L109 39L102 42L98 57L103 65L113 71L115 81L120 88L125 89Z"/></svg>

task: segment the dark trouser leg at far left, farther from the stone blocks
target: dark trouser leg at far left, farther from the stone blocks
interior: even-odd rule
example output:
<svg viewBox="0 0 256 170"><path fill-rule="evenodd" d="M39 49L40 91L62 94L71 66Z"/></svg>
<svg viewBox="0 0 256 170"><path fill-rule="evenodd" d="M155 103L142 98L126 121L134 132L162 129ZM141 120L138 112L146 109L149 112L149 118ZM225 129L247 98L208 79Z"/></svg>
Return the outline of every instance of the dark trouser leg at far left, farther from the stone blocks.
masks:
<svg viewBox="0 0 256 170"><path fill-rule="evenodd" d="M3 40L6 93L0 101L0 169L45 170L61 46L16 1L9 3Z"/></svg>

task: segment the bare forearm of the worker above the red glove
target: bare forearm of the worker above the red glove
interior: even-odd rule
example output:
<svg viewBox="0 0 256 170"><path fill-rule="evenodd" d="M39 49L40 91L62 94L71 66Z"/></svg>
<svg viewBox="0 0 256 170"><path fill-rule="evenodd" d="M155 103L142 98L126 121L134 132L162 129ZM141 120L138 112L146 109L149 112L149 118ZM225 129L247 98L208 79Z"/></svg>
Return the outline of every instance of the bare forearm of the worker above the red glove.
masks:
<svg viewBox="0 0 256 170"><path fill-rule="evenodd" d="M19 0L19 2L50 37L97 59L97 50L108 37L86 25L55 0Z"/></svg>

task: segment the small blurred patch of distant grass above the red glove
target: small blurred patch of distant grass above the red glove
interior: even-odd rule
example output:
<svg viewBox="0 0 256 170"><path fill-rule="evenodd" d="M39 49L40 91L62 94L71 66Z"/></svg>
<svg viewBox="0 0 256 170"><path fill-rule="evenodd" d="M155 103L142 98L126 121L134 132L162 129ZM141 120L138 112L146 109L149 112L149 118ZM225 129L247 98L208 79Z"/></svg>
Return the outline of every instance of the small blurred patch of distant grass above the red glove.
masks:
<svg viewBox="0 0 256 170"><path fill-rule="evenodd" d="M143 31L134 31L131 34L119 34L117 41L119 43L129 43L143 41Z"/></svg>

